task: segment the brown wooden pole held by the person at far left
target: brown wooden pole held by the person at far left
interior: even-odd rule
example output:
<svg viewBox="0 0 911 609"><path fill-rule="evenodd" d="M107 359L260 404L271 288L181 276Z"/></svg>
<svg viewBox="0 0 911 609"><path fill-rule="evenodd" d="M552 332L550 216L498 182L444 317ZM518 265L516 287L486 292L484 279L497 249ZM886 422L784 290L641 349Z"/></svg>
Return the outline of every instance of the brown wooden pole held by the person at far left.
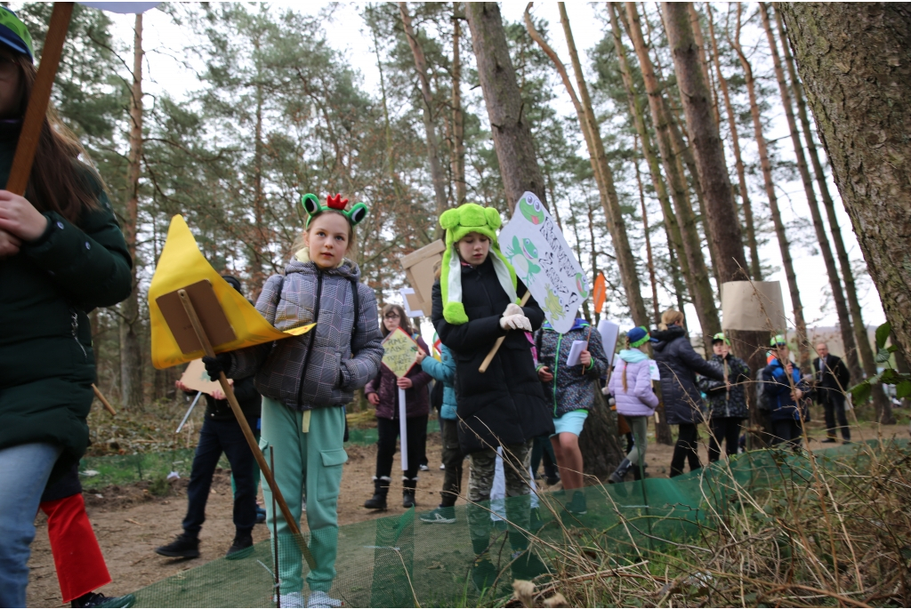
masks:
<svg viewBox="0 0 911 609"><path fill-rule="evenodd" d="M20 197L26 194L28 177L32 173L32 161L35 160L38 140L41 139L41 128L45 125L47 104L51 98L57 66L60 65L63 43L67 39L73 5L72 2L55 2L51 23L47 28L45 46L41 51L41 64L38 66L32 95L28 99L26 117L22 121L13 166L10 167L9 179L6 182L6 189Z"/></svg>

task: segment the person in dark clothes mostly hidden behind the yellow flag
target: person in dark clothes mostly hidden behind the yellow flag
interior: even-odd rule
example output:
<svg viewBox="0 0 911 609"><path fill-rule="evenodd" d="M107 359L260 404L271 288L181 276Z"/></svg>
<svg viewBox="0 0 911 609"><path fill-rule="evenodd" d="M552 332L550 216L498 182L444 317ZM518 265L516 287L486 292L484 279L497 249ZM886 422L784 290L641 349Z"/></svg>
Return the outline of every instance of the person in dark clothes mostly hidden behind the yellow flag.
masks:
<svg viewBox="0 0 911 609"><path fill-rule="evenodd" d="M230 275L222 276L234 289L241 291L241 282ZM251 430L257 429L262 399L253 385L253 378L230 381L234 397L237 398ZM177 381L181 391L187 387ZM229 558L241 558L253 546L252 531L256 524L256 462L253 452L241 431L241 425L234 417L228 400L220 390L206 395L205 421L200 430L200 443L193 457L193 468L187 486L187 515L183 519L183 533L173 542L155 550L162 556L176 558L197 558L200 555L200 530L206 520L206 502L212 485L212 476L224 452L230 463L231 473L237 491L234 492L234 542L226 554Z"/></svg>

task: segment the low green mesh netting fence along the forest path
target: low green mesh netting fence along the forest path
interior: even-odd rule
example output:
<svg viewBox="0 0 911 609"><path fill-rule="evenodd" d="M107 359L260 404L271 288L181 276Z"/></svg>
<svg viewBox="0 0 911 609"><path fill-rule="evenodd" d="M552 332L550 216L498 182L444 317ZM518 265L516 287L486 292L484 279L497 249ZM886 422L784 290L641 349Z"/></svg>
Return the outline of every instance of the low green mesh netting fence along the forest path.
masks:
<svg viewBox="0 0 911 609"><path fill-rule="evenodd" d="M909 450L907 442L890 442L886 447L871 444L816 452L817 465L827 472L856 471L865 467L871 450ZM615 556L618 563L631 563L650 550L691 539L702 523L718 515L740 510L738 492L768 492L776 486L812 481L812 466L804 455L764 450L746 452L729 462L673 479L591 486L585 491L588 513L583 516L562 511L568 497L542 493L538 510L543 526L531 548L544 563L552 565L555 552L566 546L565 535L570 534L575 543L584 538L591 547ZM475 554L467 524L469 509L490 514L488 505L459 505L454 524L423 523L421 513L410 510L401 516L340 527L337 576L329 594L353 607L496 604L497 598L510 594L509 584L517 575L516 565L511 564L507 527L499 523L491 528L490 558L496 567L496 581L479 591L470 576ZM494 510L503 513L496 502ZM309 540L308 533L304 539ZM281 572L286 573L289 567L294 571L294 565L302 561L293 540L282 539L278 545ZM274 552L271 541L264 541L241 559L219 559L179 573L139 590L136 606L275 606ZM306 574L307 565L302 563L295 581ZM307 594L306 589L303 594Z"/></svg>

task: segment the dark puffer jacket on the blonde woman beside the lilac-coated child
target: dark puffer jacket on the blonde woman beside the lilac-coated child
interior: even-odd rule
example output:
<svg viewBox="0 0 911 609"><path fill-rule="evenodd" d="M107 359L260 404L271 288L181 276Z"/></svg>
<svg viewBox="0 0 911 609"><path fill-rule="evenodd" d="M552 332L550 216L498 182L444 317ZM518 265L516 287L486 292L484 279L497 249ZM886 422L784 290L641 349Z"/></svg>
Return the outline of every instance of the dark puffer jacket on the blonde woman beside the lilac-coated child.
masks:
<svg viewBox="0 0 911 609"><path fill-rule="evenodd" d="M696 374L724 381L722 367L703 360L692 349L686 331L680 326L653 330L651 338L658 340L654 345L655 361L658 362L661 375L661 397L668 423L680 425L701 422L702 396L696 387Z"/></svg>

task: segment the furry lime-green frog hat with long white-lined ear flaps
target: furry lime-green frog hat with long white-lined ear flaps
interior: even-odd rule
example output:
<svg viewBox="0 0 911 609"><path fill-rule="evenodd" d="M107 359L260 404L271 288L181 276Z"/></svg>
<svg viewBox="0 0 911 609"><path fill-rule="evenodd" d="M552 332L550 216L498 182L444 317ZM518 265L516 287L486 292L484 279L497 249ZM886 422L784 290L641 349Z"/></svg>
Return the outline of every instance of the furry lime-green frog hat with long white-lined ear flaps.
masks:
<svg viewBox="0 0 911 609"><path fill-rule="evenodd" d="M443 296L443 318L458 325L468 321L462 304L462 259L455 244L468 233L480 233L490 239L490 256L500 286L512 302L516 296L516 269L500 252L496 229L503 221L494 208L482 208L476 203L465 203L455 209L447 209L440 216L440 226L446 229L446 249L440 273L440 290Z"/></svg>

